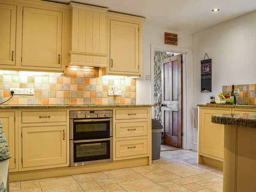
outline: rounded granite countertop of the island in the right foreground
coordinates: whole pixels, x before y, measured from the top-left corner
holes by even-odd
[[[212,122],[223,125],[234,125],[256,128],[256,112],[242,114],[212,115]]]

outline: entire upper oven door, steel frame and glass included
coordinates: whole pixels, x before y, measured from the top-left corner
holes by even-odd
[[[70,139],[98,139],[113,136],[112,118],[70,119]]]

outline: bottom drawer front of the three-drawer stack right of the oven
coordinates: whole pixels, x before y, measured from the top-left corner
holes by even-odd
[[[148,140],[127,140],[116,142],[116,158],[126,156],[136,156],[148,153]]]

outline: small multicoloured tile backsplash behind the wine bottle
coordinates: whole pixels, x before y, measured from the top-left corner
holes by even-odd
[[[256,84],[235,85],[240,90],[238,104],[256,105]],[[231,93],[232,85],[222,86],[223,93]]]

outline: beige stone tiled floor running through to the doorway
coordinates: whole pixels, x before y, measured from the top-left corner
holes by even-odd
[[[161,152],[152,166],[10,183],[11,192],[222,192],[222,171],[196,152]]]

